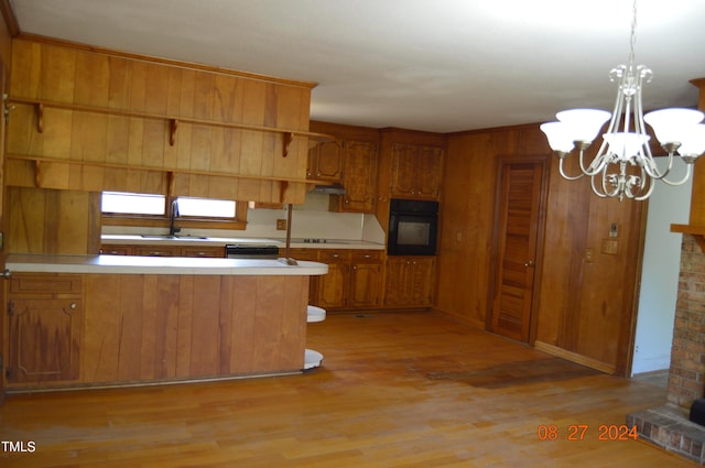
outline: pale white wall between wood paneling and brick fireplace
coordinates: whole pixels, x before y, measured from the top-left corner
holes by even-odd
[[[682,235],[670,229],[688,222],[691,187],[658,183],[649,199],[632,376],[671,366]]]

